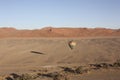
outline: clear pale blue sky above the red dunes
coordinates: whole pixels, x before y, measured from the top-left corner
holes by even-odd
[[[0,0],[0,27],[120,28],[120,0]]]

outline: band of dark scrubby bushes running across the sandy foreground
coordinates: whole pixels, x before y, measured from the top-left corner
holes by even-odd
[[[70,74],[80,75],[87,73],[90,70],[96,69],[109,69],[109,68],[118,68],[120,67],[120,60],[117,60],[113,64],[108,63],[99,63],[99,64],[90,64],[90,66],[75,66],[75,67],[60,67],[61,71],[49,72],[48,70],[40,70],[36,74],[15,74],[12,73],[10,76],[5,77],[6,80],[35,80],[36,78],[51,78],[53,80],[70,80]]]

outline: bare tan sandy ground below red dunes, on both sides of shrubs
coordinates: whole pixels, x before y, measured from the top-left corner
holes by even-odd
[[[70,40],[77,43],[73,50],[68,45]],[[0,39],[0,75],[29,73],[42,67],[113,63],[116,60],[120,60],[120,37]],[[71,80],[119,79],[118,69],[71,77]]]

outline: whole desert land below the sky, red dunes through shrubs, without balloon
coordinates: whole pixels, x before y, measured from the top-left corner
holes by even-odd
[[[1,28],[0,79],[120,80],[120,30]]]

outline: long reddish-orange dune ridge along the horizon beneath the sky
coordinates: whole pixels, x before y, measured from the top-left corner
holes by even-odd
[[[8,37],[100,37],[120,36],[120,29],[105,28],[51,28],[17,30],[0,28],[0,38]]]

